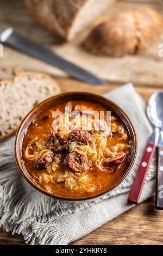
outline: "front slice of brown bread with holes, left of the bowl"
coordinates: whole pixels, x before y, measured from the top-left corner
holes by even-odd
[[[6,70],[0,81],[0,141],[17,130],[24,116],[39,102],[60,92],[53,78],[39,72]],[[11,79],[9,79],[10,77]],[[5,79],[7,78],[7,79]]]

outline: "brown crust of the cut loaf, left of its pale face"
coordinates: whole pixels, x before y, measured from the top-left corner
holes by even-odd
[[[30,13],[43,26],[69,39],[69,29],[76,18],[78,11],[87,0],[24,0]]]

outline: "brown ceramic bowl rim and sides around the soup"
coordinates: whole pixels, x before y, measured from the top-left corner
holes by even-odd
[[[24,133],[27,131],[28,126],[30,123],[35,119],[37,115],[39,115],[42,111],[45,111],[48,107],[51,107],[57,103],[60,103],[62,101],[70,101],[70,100],[85,100],[85,101],[92,101],[92,102],[98,102],[99,104],[105,106],[108,108],[109,111],[114,111],[118,117],[121,118],[124,125],[126,125],[127,130],[129,132],[130,138],[133,141],[133,150],[131,151],[131,157],[130,157],[130,163],[129,166],[126,169],[126,172],[122,176],[120,176],[114,184],[112,184],[110,187],[108,187],[106,190],[99,192],[96,196],[87,196],[87,197],[81,197],[81,198],[64,198],[62,195],[55,196],[55,194],[48,193],[45,188],[43,188],[40,184],[37,184],[35,180],[33,180],[30,175],[28,174],[26,168],[23,165],[22,162],[22,142]],[[16,134],[16,141],[15,141],[15,158],[18,168],[20,169],[21,173],[23,174],[24,178],[36,188],[36,190],[39,190],[40,192],[47,194],[48,196],[60,199],[60,200],[68,200],[72,202],[83,202],[85,200],[91,200],[98,197],[103,196],[104,194],[107,194],[109,191],[120,185],[120,183],[126,178],[128,173],[131,170],[131,167],[134,164],[135,157],[137,152],[137,138],[136,138],[136,132],[133,127],[133,124],[131,123],[130,119],[128,118],[127,114],[124,113],[124,111],[118,107],[114,102],[106,99],[103,96],[99,96],[92,93],[84,93],[84,92],[72,92],[72,93],[62,93],[57,96],[51,97],[43,102],[41,102],[39,105],[35,106],[32,111],[30,111],[26,117],[22,120],[22,123],[20,127],[18,128],[17,134]]]

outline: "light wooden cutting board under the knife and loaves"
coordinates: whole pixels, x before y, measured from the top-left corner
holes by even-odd
[[[163,15],[163,7],[160,8],[160,5],[158,5],[159,0],[117,0],[116,4],[112,5],[109,10],[106,10],[106,14],[101,19],[103,20],[106,16],[109,17],[137,6],[140,7],[147,2]],[[16,31],[27,36],[27,38],[51,48],[61,56],[72,60],[80,66],[84,66],[87,70],[94,72],[108,81],[115,83],[133,82],[134,84],[143,86],[163,86],[163,57],[159,57],[158,55],[159,44],[161,42],[163,43],[163,34],[160,40],[141,56],[109,58],[96,57],[85,51],[80,45],[61,42],[60,39],[35,22],[20,0],[1,1],[0,24],[1,29],[14,27]],[[4,57],[0,58],[0,66],[9,65],[21,66],[27,70],[48,72],[52,75],[66,76],[64,72],[57,68],[53,68],[11,48],[4,47]]]

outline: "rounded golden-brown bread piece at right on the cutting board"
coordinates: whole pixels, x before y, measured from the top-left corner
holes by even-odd
[[[162,16],[151,8],[121,13],[95,27],[84,42],[92,53],[122,57],[145,52],[163,31]]]

